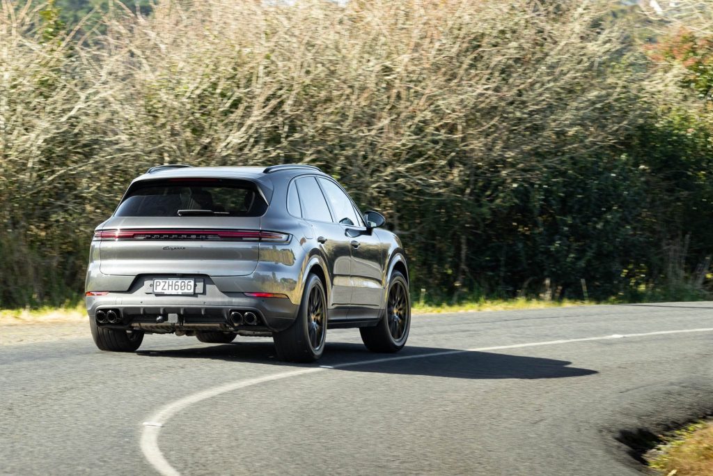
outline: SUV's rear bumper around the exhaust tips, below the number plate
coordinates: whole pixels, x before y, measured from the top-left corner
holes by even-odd
[[[120,323],[101,324],[113,328],[142,328],[149,332],[174,330],[243,330],[255,333],[279,332],[289,327],[297,316],[298,304],[288,298],[252,298],[243,293],[222,293],[205,276],[195,295],[155,295],[148,283],[152,278],[140,278],[125,293],[87,296],[86,308],[90,318],[98,310],[113,309]],[[234,325],[230,312],[252,312],[257,324]]]

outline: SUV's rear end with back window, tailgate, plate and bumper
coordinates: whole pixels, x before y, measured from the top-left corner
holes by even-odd
[[[92,240],[93,331],[272,335],[289,327],[299,289],[285,277],[299,275],[302,248],[266,227],[272,195],[262,168],[160,167],[135,179]]]

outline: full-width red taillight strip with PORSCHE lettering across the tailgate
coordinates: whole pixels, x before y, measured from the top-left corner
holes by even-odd
[[[102,230],[97,240],[247,240],[287,241],[287,233],[258,230]]]

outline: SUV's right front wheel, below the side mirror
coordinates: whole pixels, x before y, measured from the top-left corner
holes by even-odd
[[[359,328],[361,341],[371,352],[399,352],[409,338],[411,329],[411,296],[409,284],[399,271],[391,273],[386,294],[384,317],[371,328]]]

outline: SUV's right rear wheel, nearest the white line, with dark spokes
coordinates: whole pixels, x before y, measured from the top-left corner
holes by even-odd
[[[279,360],[314,362],[322,357],[327,341],[327,298],[319,276],[307,276],[297,319],[273,340]]]

